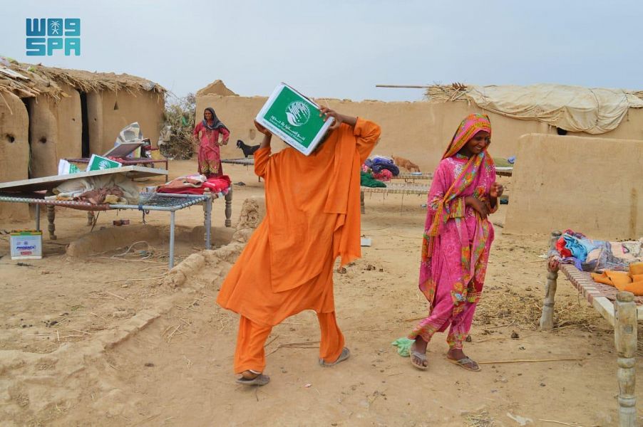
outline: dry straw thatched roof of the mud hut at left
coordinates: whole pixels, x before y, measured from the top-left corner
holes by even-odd
[[[146,91],[165,94],[158,83],[128,74],[92,73],[86,70],[45,67],[17,63],[0,58],[0,94],[13,93],[18,97],[47,95],[55,99],[64,97],[59,85],[66,83],[81,92],[125,90],[130,93]]]

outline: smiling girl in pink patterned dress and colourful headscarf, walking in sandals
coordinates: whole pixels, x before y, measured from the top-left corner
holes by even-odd
[[[470,371],[480,367],[462,344],[483,289],[493,226],[487,216],[498,209],[503,186],[487,153],[491,123],[481,114],[463,120],[446,149],[428,194],[422,244],[420,290],[430,314],[408,335],[414,339],[411,363],[426,369],[426,346],[449,328],[447,358]]]

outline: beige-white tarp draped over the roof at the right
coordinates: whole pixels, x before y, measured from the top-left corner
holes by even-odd
[[[616,129],[629,108],[643,107],[643,100],[626,90],[566,85],[467,85],[464,97],[500,115],[590,134]]]

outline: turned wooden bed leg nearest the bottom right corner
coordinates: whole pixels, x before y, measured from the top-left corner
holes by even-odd
[[[614,342],[618,355],[619,427],[637,425],[637,305],[632,292],[618,292],[614,302]]]

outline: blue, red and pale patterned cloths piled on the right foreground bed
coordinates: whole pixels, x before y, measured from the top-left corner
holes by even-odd
[[[607,242],[566,230],[550,253],[559,263],[574,264],[578,270],[628,271],[629,265],[643,261],[643,238],[637,241]]]

